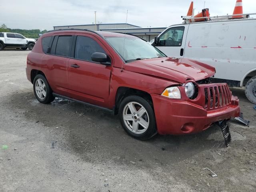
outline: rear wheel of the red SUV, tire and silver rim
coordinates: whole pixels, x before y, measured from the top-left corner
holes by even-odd
[[[36,75],[34,78],[33,89],[36,99],[40,103],[47,104],[55,99],[46,78],[41,74]]]

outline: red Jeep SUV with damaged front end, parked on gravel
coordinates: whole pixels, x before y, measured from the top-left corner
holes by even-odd
[[[138,139],[201,132],[239,116],[227,84],[211,84],[215,69],[186,58],[169,58],[126,34],[53,30],[27,57],[26,75],[41,103],[68,98],[118,114]]]

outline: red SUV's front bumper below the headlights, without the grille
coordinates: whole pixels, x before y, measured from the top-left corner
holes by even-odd
[[[231,104],[216,110],[182,100],[173,100],[151,94],[159,134],[192,134],[201,132],[214,122],[239,116],[238,98],[232,96]]]

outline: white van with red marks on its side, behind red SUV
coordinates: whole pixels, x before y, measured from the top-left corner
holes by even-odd
[[[256,104],[256,19],[184,22],[166,28],[152,45],[167,56],[214,66],[212,82],[245,86],[248,100]]]

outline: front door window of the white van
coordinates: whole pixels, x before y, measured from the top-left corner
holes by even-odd
[[[185,27],[172,27],[160,36],[159,46],[181,46]]]

